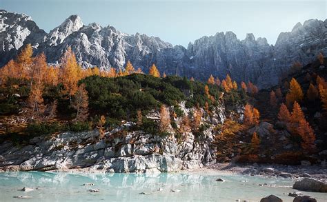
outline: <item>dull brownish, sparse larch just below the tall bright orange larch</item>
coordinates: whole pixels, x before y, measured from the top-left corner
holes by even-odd
[[[72,108],[77,111],[75,122],[85,121],[88,119],[88,92],[85,89],[84,83],[79,85],[77,91],[75,92]]]

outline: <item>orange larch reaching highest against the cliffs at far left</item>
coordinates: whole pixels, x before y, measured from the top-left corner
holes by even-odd
[[[30,65],[32,65],[33,58],[33,48],[28,43],[25,48],[21,51],[21,53],[17,57],[17,65],[19,66],[19,76],[18,78],[25,78],[26,77],[26,72],[30,69]]]

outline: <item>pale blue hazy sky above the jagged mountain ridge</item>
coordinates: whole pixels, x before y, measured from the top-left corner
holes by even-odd
[[[280,32],[297,22],[327,18],[327,1],[321,0],[0,0],[0,9],[28,14],[49,32],[71,14],[83,23],[114,26],[127,34],[160,37],[187,47],[190,41],[217,32],[232,31],[266,37],[275,44]]]

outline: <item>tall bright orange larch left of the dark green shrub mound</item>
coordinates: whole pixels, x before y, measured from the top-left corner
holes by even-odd
[[[77,82],[80,79],[81,67],[77,64],[75,54],[70,47],[61,57],[60,70],[64,93],[67,93],[71,99],[75,92],[77,92]]]

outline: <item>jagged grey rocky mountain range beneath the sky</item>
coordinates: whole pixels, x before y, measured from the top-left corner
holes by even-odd
[[[71,46],[83,68],[123,68],[130,60],[144,72],[156,63],[166,74],[207,79],[210,74],[223,78],[230,73],[236,81],[253,81],[266,88],[278,83],[295,61],[305,65],[319,52],[327,54],[327,20],[297,23],[291,32],[279,34],[275,46],[253,34],[239,40],[233,32],[218,32],[184,48],[146,34],[124,34],[112,26],[86,26],[77,15],[46,33],[26,14],[0,10],[0,41],[0,66],[27,43],[35,54],[45,52],[49,63],[57,63]]]

